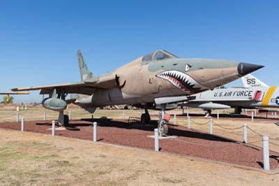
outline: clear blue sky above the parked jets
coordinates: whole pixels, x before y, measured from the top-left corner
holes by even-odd
[[[1,1],[0,90],[78,82],[78,49],[94,75],[165,49],[263,64],[253,74],[278,85],[278,7],[279,1]],[[41,99],[38,92],[15,96]]]

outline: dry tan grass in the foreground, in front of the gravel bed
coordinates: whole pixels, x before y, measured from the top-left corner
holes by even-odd
[[[0,129],[0,185],[278,185],[188,157]]]

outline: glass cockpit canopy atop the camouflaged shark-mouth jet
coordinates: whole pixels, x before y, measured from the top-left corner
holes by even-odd
[[[155,62],[163,59],[178,58],[176,55],[167,52],[166,50],[157,50],[142,57],[142,62]]]

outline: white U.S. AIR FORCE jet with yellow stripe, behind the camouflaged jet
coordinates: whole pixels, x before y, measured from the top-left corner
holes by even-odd
[[[241,80],[244,87],[201,92],[185,105],[202,108],[206,114],[210,114],[212,109],[235,108],[234,113],[241,114],[242,108],[279,108],[278,87],[269,87],[250,74]]]

